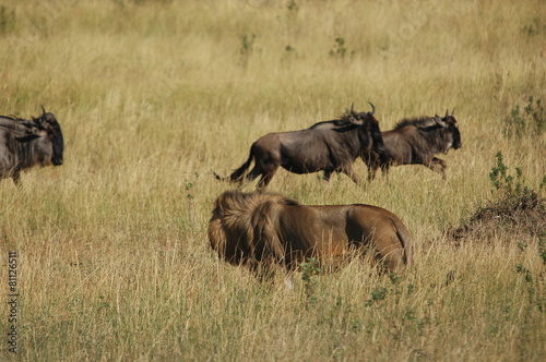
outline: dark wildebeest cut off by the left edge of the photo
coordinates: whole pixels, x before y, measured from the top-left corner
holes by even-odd
[[[0,179],[19,183],[21,170],[33,166],[62,165],[61,128],[54,113],[32,120],[0,116]]]

